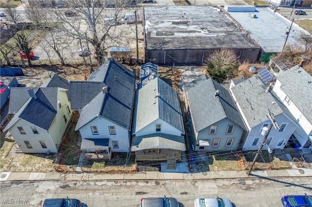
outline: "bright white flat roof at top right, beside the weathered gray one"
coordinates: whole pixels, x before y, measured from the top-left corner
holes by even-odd
[[[261,46],[265,52],[282,52],[292,21],[274,13],[269,8],[257,8],[256,12],[228,12],[249,35]],[[252,15],[256,15],[252,18]],[[293,14],[294,15],[294,14]],[[291,32],[287,39],[287,45],[294,43],[301,45],[298,41],[301,33],[306,32],[299,25],[293,23]],[[303,46],[303,45],[302,45]]]

